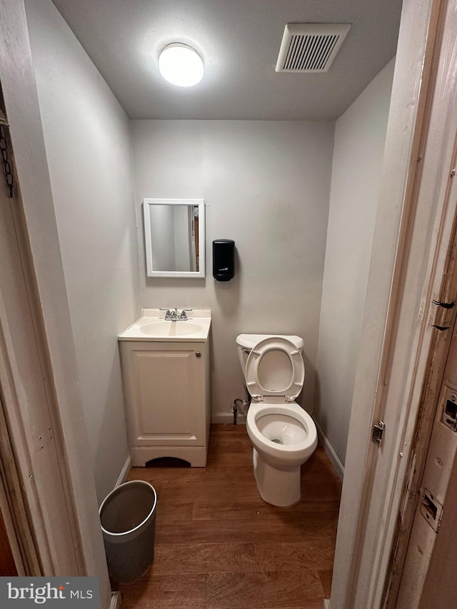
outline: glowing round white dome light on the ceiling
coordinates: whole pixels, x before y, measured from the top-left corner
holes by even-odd
[[[159,71],[171,84],[194,86],[203,78],[203,61],[191,46],[174,42],[162,49]]]

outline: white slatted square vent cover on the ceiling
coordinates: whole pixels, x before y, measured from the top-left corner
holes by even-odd
[[[276,72],[326,72],[351,29],[348,24],[287,24]]]

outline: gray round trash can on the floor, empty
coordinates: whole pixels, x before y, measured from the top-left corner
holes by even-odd
[[[111,577],[133,582],[154,558],[157,493],[143,480],[119,485],[100,506],[100,523]]]

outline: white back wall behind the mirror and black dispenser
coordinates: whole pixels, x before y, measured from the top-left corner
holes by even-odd
[[[204,198],[206,278],[146,279],[147,307],[211,308],[213,419],[243,397],[238,333],[304,339],[303,406],[313,407],[333,151],[331,122],[132,121],[136,204]],[[141,228],[141,227],[140,227]],[[211,241],[236,241],[236,276],[212,277]]]

